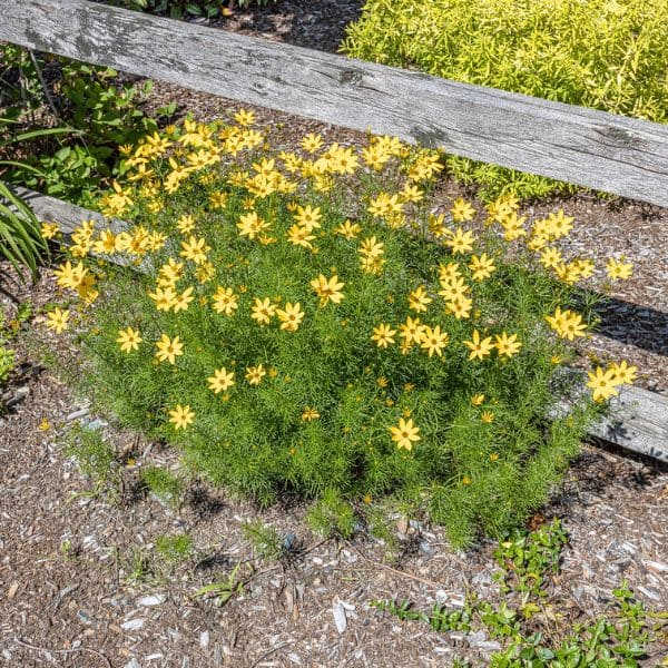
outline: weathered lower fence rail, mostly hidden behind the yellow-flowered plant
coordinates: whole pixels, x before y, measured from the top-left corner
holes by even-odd
[[[66,240],[82,220],[95,219],[115,233],[128,227],[122,220],[107,220],[101,214],[55,197],[27,188],[14,190],[26,198],[38,218],[59,223]],[[640,387],[625,387],[610,402],[603,421],[590,428],[589,435],[668,463],[668,397]]]

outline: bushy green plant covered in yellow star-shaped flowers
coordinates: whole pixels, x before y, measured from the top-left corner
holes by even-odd
[[[275,155],[252,114],[236,119],[128,149],[128,184],[100,206],[132,227],[75,232],[56,274],[81,306],[48,326],[76,325],[94,397],[215,483],[263,504],[320,499],[314,521],[342,533],[351,501],[381,495],[458,544],[514,525],[593,410],[587,396],[549,419],[581,382],[562,363],[589,330],[574,283],[593,262],[557,247],[572,218],[439,205],[438,154],[396,139],[308,136]],[[595,399],[633,371],[598,369]]]

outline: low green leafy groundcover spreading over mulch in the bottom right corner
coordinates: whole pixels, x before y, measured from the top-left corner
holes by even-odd
[[[612,591],[615,603],[605,616],[577,623],[569,632],[563,629],[554,632],[551,625],[543,627],[540,617],[533,615],[546,602],[544,579],[558,572],[566,543],[561,523],[553,520],[533,532],[515,532],[512,540],[501,542],[494,550],[494,559],[504,572],[502,593],[521,595],[523,613],[505,600],[492,605],[475,596],[469,596],[464,607],[455,610],[436,603],[431,611],[423,612],[415,610],[407,599],[376,600],[371,606],[401,620],[423,621],[435,631],[483,629],[492,638],[505,640],[507,647],[491,657],[490,665],[494,668],[641,666],[648,646],[668,617],[646,610],[626,580]],[[531,615],[525,613],[528,602]],[[554,618],[553,610],[551,617]]]

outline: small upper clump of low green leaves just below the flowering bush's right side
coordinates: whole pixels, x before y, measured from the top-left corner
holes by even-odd
[[[548,578],[559,572],[561,551],[567,543],[568,536],[559,518],[531,533],[513,531],[493,552],[502,569],[497,577],[502,591],[546,597]]]

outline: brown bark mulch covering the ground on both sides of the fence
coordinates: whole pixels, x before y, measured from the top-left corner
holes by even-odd
[[[334,50],[360,2],[285,1],[237,12],[224,28]],[[147,104],[175,99],[181,112],[210,119],[240,105],[158,84]],[[322,131],[327,141],[360,135],[313,120],[256,109],[273,143],[294,146]],[[462,193],[444,179],[449,197]],[[640,367],[641,384],[666,392],[668,354],[668,210],[591,195],[543,202],[534,213],[562,206],[579,223],[573,250],[606,257],[623,253],[635,263],[603,312],[601,334],[584,353],[625,357]],[[12,297],[38,310],[57,298],[43,271],[21,286],[0,264],[0,308]],[[19,367],[0,415],[0,665],[10,667],[376,667],[448,666],[454,656],[488,662],[494,641],[435,633],[399,622],[370,607],[373,599],[407,598],[426,609],[435,601],[461,605],[473,591],[500,600],[492,543],[455,552],[438,528],[396,518],[400,552],[364,528],[352,540],[323,541],[304,520],[305,507],[285,500],[259,512],[188,473],[180,508],[160,503],[139,482],[148,465],[179,469],[178,453],[146,442],[90,414],[53,372],[39,363],[39,316],[14,342]],[[56,356],[76,354],[47,337]],[[1,393],[1,392],[0,392]],[[48,421],[48,429],[43,421]],[[116,483],[96,490],[63,451],[75,425],[88,425],[115,449]],[[557,515],[570,536],[550,600],[569,623],[603,612],[611,589],[627,579],[640,600],[668,608],[668,469],[612,449],[586,445],[542,514]],[[261,519],[294,544],[292,558],[262,562],[244,539],[245,522]],[[155,548],[161,536],[188,532],[194,552],[169,564]],[[236,564],[243,589],[225,606],[197,590],[228,580]],[[338,628],[336,620],[338,620]],[[343,620],[343,621],[342,621]],[[343,623],[345,622],[345,623]],[[343,628],[345,626],[345,628]],[[668,640],[668,639],[666,639]],[[647,666],[668,652],[655,647]]]

